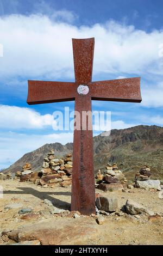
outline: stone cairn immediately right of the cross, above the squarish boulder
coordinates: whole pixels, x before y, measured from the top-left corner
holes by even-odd
[[[98,170],[96,175],[96,187],[103,191],[114,191],[123,189],[123,185],[127,182],[124,174],[118,169],[117,164],[107,164],[104,174]]]

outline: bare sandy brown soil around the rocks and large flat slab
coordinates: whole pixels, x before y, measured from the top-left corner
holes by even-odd
[[[29,220],[21,219],[22,215],[18,215],[17,209],[4,210],[4,206],[10,203],[21,203],[22,208],[32,208],[34,214],[38,214],[40,210],[49,211],[49,206],[43,203],[43,199],[53,201],[53,204],[59,208],[70,209],[71,188],[55,187],[43,188],[36,186],[32,182],[18,182],[16,180],[1,181],[3,186],[4,197],[0,199],[0,232],[3,230],[15,230],[25,227],[27,224],[39,223],[43,218],[52,220],[56,226],[61,225],[62,220],[66,217],[47,214],[47,216],[36,215]],[[158,191],[146,191],[139,188],[127,192],[103,192],[96,190],[104,196],[116,196],[118,198],[118,211],[126,203],[127,199],[133,199],[137,203],[143,204],[148,210],[163,216],[163,199],[159,199]],[[162,245],[163,244],[163,221],[162,217],[151,218],[146,215],[135,216],[127,215],[104,216],[103,225],[97,225],[97,235],[92,239],[83,241],[84,245]],[[83,218],[83,225],[92,217]],[[72,221],[77,219],[72,219]],[[86,220],[86,222],[85,222]],[[95,220],[93,220],[95,221]],[[81,218],[79,223],[81,223]],[[96,223],[96,221],[95,221]],[[4,236],[3,236],[4,238]],[[4,239],[5,240],[5,239]],[[87,241],[87,242],[86,242]],[[3,241],[0,238],[0,244],[14,243],[14,241]],[[80,245],[82,242],[79,242]],[[70,243],[72,244],[72,242]],[[78,244],[73,241],[73,244]]]

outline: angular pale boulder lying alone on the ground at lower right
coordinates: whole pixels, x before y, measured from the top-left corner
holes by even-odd
[[[142,214],[146,209],[138,203],[135,203],[133,200],[127,200],[126,202],[126,212],[131,215]]]

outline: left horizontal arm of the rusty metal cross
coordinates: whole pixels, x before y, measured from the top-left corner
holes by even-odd
[[[71,101],[74,99],[74,83],[28,80],[27,103],[29,105]]]

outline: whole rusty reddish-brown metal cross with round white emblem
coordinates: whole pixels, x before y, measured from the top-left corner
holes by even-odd
[[[72,39],[75,82],[28,81],[27,103],[75,100],[75,111],[91,111],[91,100],[141,102],[140,77],[92,82],[95,39]],[[71,210],[95,214],[92,130],[74,130]]]

